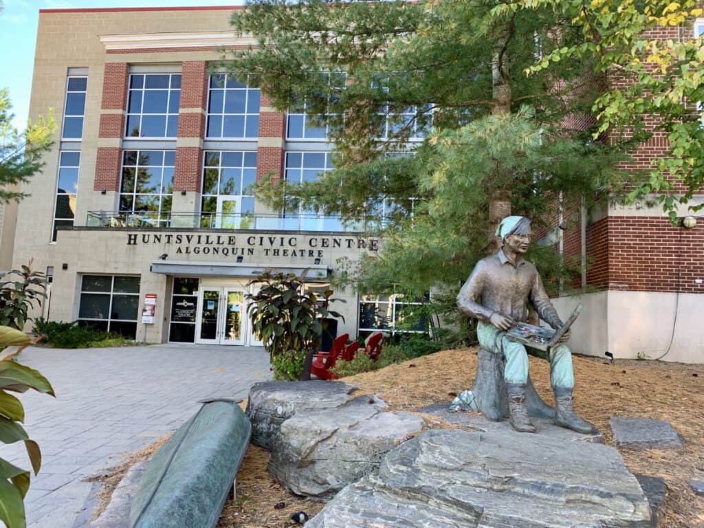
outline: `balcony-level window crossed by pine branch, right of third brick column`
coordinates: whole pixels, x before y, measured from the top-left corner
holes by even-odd
[[[332,153],[329,152],[287,152],[284,177],[291,183],[315,182],[323,172],[333,169]],[[300,228],[303,231],[341,231],[339,216],[325,216],[318,210],[301,206],[296,211],[285,213],[301,215]]]

